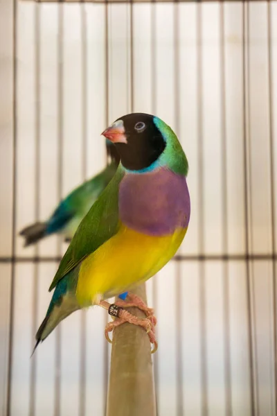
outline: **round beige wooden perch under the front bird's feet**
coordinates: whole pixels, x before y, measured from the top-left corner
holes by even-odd
[[[146,302],[145,284],[132,291]],[[133,315],[145,318],[137,308]],[[114,329],[107,416],[156,416],[151,345],[141,327],[125,323]]]

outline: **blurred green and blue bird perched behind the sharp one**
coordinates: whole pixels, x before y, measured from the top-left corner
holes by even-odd
[[[107,154],[111,163],[105,169],[71,191],[46,221],[28,225],[19,232],[25,239],[24,247],[57,233],[62,234],[65,242],[71,241],[82,218],[116,173],[119,155],[115,146],[108,140]]]

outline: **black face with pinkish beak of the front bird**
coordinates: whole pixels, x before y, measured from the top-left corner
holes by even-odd
[[[131,171],[148,168],[166,148],[166,141],[150,114],[119,117],[102,135],[114,143],[123,166]]]

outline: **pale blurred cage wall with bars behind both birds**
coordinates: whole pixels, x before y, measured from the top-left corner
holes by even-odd
[[[105,416],[107,313],[30,359],[66,244],[18,233],[105,166],[100,132],[131,111],[190,164],[188,233],[147,284],[158,414],[277,415],[276,93],[277,2],[0,0],[0,415]]]

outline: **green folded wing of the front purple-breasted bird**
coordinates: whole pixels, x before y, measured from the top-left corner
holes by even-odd
[[[84,216],[73,239],[66,250],[49,291],[57,285],[68,272],[100,245],[116,234],[118,229],[118,187],[124,175],[121,164],[116,174],[102,191],[98,200]]]

